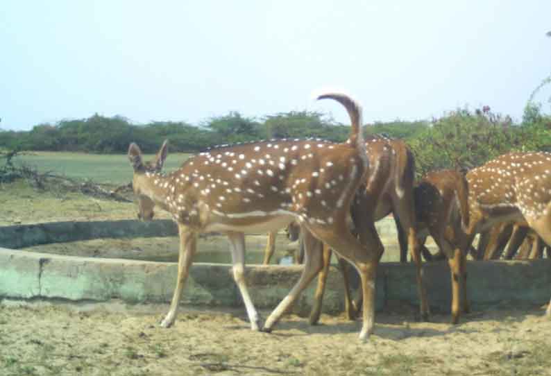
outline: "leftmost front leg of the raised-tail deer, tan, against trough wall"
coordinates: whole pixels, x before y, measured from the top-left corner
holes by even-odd
[[[178,223],[178,232],[180,233],[180,253],[178,255],[178,277],[176,278],[176,289],[172,296],[167,316],[161,321],[162,327],[170,327],[176,320],[180,298],[189,275],[189,267],[192,266],[193,257],[196,251],[197,235],[187,226]]]

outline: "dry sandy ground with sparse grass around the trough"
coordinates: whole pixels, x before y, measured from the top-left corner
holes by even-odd
[[[130,204],[0,187],[0,225],[134,216]],[[285,316],[265,334],[249,329],[244,308],[195,308],[162,329],[167,305],[3,300],[0,375],[551,375],[541,307],[484,309],[459,325],[448,315],[417,323],[411,308],[393,307],[378,313],[367,343],[344,316],[316,327]]]

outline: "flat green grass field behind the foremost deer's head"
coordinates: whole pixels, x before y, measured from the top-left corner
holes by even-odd
[[[177,169],[189,155],[169,153],[164,170]],[[152,155],[144,155],[144,160],[147,161],[151,157]],[[126,154],[99,155],[40,151],[16,157],[14,162],[33,166],[42,173],[51,171],[69,178],[91,179],[94,182],[121,185],[132,180],[132,168]]]

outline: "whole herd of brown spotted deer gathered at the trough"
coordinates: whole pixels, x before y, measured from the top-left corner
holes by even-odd
[[[551,245],[550,153],[509,153],[467,173],[429,173],[414,185],[414,157],[404,142],[385,137],[364,140],[361,106],[346,94],[328,92],[317,99],[332,99],[346,108],[351,122],[346,142],[271,139],[215,146],[189,157],[171,173],[162,172],[166,141],[151,162],[144,162],[139,146],[130,144],[128,157],[134,170],[139,219],[153,219],[153,208],[158,206],[178,225],[178,277],[163,327],[176,320],[197,237],[203,232],[228,236],[232,273],[251,329],[264,332],[273,330],[316,276],[318,288],[310,323],[319,320],[334,251],[341,271],[346,272],[345,265],[350,263],[359,273],[359,302],[353,303],[347,283],[345,297],[350,318],[362,313],[362,340],[373,332],[375,321],[375,278],[384,250],[375,221],[384,216],[392,213],[396,220],[400,261],[406,261],[409,250],[415,262],[420,312],[425,320],[430,312],[421,255],[448,259],[452,323],[457,323],[461,311],[469,309],[468,253],[477,259],[499,257],[509,237],[506,255],[511,257],[516,251],[512,248],[527,239],[532,239],[532,246],[525,246],[528,250],[524,253],[532,257]],[[273,234],[288,225],[296,234],[300,231],[303,271],[262,323],[246,286],[244,234],[271,234],[264,259],[267,263],[273,253]],[[478,249],[473,250],[476,234],[482,235]],[[428,235],[439,247],[439,255],[432,256],[425,248]],[[346,273],[344,280],[348,280]],[[547,314],[551,315],[551,302]]]

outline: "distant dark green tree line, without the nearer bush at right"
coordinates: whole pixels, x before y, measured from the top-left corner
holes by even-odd
[[[425,121],[381,123],[370,132],[406,137],[428,126]],[[258,121],[230,112],[194,126],[184,121],[152,121],[133,124],[128,119],[94,114],[87,119],[44,123],[29,131],[0,130],[0,148],[26,151],[72,151],[84,153],[126,153],[136,142],[146,153],[156,151],[164,139],[171,151],[196,152],[218,144],[235,144],[258,139],[320,137],[335,142],[348,137],[348,125],[337,123],[319,112],[286,112]]]

